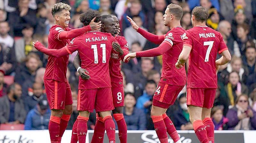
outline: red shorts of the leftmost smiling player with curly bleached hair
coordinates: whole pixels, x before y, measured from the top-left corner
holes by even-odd
[[[73,104],[69,82],[44,79],[44,83],[50,109],[64,110],[65,105]]]

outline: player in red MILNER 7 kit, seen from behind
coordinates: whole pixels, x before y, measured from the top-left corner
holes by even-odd
[[[221,34],[206,26],[207,15],[204,7],[193,9],[193,28],[182,36],[183,50],[176,67],[183,68],[189,57],[187,105],[190,121],[201,143],[214,143],[210,115],[217,89],[216,73],[219,65],[229,62],[231,56]],[[217,53],[222,57],[215,61]]]

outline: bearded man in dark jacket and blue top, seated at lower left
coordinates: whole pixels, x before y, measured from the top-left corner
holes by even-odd
[[[0,98],[0,123],[23,124],[26,110],[21,100],[21,85],[13,83],[7,89],[7,96]]]

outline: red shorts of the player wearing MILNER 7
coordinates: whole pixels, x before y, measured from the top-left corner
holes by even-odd
[[[187,105],[203,108],[213,106],[216,89],[187,88]]]

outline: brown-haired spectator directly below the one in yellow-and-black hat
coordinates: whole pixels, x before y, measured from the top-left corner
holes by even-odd
[[[246,47],[246,42],[248,41],[248,33],[249,33],[249,26],[247,24],[240,24],[237,25],[237,39],[236,43],[234,44],[235,47],[239,47],[241,55],[245,54],[245,47]]]

